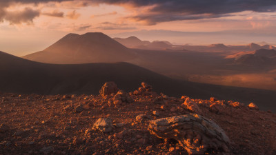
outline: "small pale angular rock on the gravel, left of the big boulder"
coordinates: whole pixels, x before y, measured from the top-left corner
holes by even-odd
[[[111,118],[99,118],[94,127],[101,132],[111,132],[114,128]]]

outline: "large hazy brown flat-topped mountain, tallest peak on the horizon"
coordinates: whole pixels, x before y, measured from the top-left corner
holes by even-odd
[[[106,34],[68,34],[41,52],[23,56],[43,63],[114,63],[135,58],[129,50]]]

